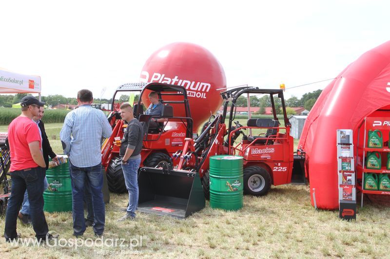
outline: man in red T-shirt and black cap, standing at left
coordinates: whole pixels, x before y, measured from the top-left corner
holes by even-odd
[[[8,126],[8,141],[11,153],[11,196],[5,216],[4,237],[7,242],[20,237],[16,224],[20,205],[27,189],[30,200],[31,221],[40,242],[52,239],[43,213],[43,179],[46,164],[42,155],[42,139],[37,123],[32,118],[39,115],[44,103],[32,96],[23,97],[21,114]],[[48,234],[48,237],[46,235]]]

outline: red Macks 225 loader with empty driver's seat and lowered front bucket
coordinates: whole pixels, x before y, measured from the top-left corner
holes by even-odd
[[[246,126],[234,121],[235,103],[241,95],[248,93],[270,96],[272,119],[249,119]],[[297,155],[293,155],[291,124],[286,114],[283,91],[238,87],[222,92],[221,96],[224,100],[223,113],[211,116],[198,137],[186,137],[182,148],[172,154],[172,163],[140,168],[139,211],[185,218],[203,208],[204,198],[209,197],[209,159],[212,155],[243,156],[246,194],[265,195],[272,184],[305,181],[305,153],[299,150]],[[283,127],[276,115],[274,97],[279,98],[282,104]],[[225,122],[225,119],[228,121]],[[247,135],[244,131],[248,130],[258,134]],[[239,140],[240,135],[242,138]]]

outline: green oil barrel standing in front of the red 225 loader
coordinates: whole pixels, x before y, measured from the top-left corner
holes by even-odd
[[[243,206],[243,157],[210,157],[210,207],[238,210]]]

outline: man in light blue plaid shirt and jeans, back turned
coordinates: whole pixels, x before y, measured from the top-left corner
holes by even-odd
[[[105,209],[103,202],[103,174],[101,172],[101,138],[109,138],[112,128],[101,110],[91,106],[92,92],[82,89],[77,93],[78,109],[69,112],[59,137],[64,154],[68,155],[72,181],[72,212],[75,236],[85,231],[83,195],[85,181],[92,193],[95,235],[104,231]],[[72,137],[71,137],[72,136]]]

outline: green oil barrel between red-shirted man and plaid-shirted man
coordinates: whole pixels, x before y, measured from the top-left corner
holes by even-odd
[[[69,162],[46,170],[49,184],[43,192],[47,212],[72,211],[72,186],[69,172]]]

